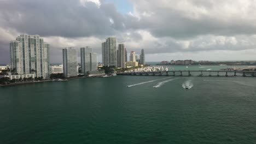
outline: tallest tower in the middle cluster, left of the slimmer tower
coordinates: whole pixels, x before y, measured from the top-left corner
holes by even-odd
[[[105,66],[117,67],[117,39],[110,37],[102,43],[102,62]]]

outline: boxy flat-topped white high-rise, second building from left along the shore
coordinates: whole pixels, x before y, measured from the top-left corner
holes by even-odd
[[[62,49],[63,55],[63,74],[65,77],[77,76],[77,50],[68,47]]]

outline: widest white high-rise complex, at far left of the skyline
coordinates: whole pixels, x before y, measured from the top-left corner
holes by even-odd
[[[10,63],[15,73],[34,73],[36,77],[49,79],[49,49],[39,35],[22,34],[10,41]]]

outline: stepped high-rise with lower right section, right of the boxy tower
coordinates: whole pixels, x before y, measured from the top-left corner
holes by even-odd
[[[92,52],[89,46],[82,47],[81,51],[81,72],[87,75],[88,71],[97,71],[98,56]]]

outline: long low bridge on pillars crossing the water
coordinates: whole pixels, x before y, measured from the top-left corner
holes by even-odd
[[[124,72],[117,75],[166,75],[166,76],[252,76],[256,71],[241,71],[241,70],[169,70],[169,71],[142,71],[142,72]]]

